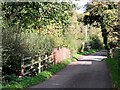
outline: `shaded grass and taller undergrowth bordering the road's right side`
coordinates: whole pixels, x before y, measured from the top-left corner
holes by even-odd
[[[113,58],[104,59],[109,65],[114,88],[120,89],[120,49],[114,50]]]

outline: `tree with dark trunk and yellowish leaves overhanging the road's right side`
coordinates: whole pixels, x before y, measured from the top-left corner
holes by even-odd
[[[113,33],[119,39],[118,28],[118,3],[115,2],[92,2],[87,5],[86,14],[83,16],[84,24],[101,27],[105,49],[109,51],[108,36]],[[116,35],[114,34],[116,33]],[[109,54],[109,53],[108,53]],[[109,55],[108,55],[109,56]]]

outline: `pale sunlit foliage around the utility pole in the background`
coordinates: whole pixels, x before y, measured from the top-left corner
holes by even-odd
[[[88,25],[88,41],[85,41],[85,25],[82,22],[79,22],[78,19],[79,15],[73,11],[73,17],[70,19],[71,24],[68,27],[68,31],[66,31],[66,43],[67,47],[71,50],[71,54],[73,55],[74,53],[81,52],[83,41],[86,42],[85,49],[87,49],[86,47],[89,45],[92,46],[92,49],[100,49],[100,46],[102,46],[101,29]],[[89,41],[91,41],[91,43],[89,43]],[[96,47],[97,45],[98,47]]]

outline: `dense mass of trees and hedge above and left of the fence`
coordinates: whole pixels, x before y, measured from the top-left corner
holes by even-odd
[[[54,47],[64,46],[71,8],[66,2],[2,3],[3,75],[19,74],[26,56],[49,55]]]

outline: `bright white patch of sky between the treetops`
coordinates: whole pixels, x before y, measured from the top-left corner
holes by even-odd
[[[77,4],[78,7],[81,7],[80,9],[76,9],[78,14],[85,12],[84,5],[87,4],[87,2],[90,2],[90,0],[73,0],[74,4]]]

